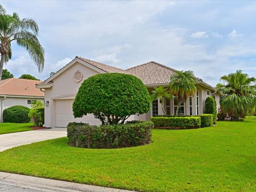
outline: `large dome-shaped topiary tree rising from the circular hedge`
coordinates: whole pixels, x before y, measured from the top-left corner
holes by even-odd
[[[133,75],[109,73],[85,79],[73,103],[75,117],[94,114],[102,124],[123,124],[150,110],[146,86]]]

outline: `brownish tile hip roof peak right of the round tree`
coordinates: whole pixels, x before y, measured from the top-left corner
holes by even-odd
[[[127,73],[141,79],[144,84],[170,83],[170,77],[175,69],[164,66],[158,62],[150,61],[139,66],[126,69]]]

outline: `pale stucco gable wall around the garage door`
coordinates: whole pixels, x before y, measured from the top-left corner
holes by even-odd
[[[83,74],[83,79],[79,83],[73,80],[73,75],[77,70],[81,71]],[[45,106],[45,126],[55,127],[54,100],[74,99],[83,81],[96,74],[99,73],[79,62],[76,62],[53,79],[53,86],[50,89],[45,89],[45,102],[49,101],[49,106]]]

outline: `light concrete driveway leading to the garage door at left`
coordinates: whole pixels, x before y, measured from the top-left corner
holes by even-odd
[[[0,151],[13,147],[27,145],[33,142],[49,139],[61,138],[67,136],[67,129],[52,128],[35,131],[25,131],[19,133],[8,133],[0,135]]]

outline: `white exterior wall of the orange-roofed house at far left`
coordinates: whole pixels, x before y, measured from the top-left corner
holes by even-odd
[[[28,100],[39,100],[44,103],[44,99],[37,98],[9,98],[6,97],[0,98],[0,111],[1,111],[1,122],[3,120],[3,110],[15,105],[25,106],[31,108],[31,105],[28,105]]]

